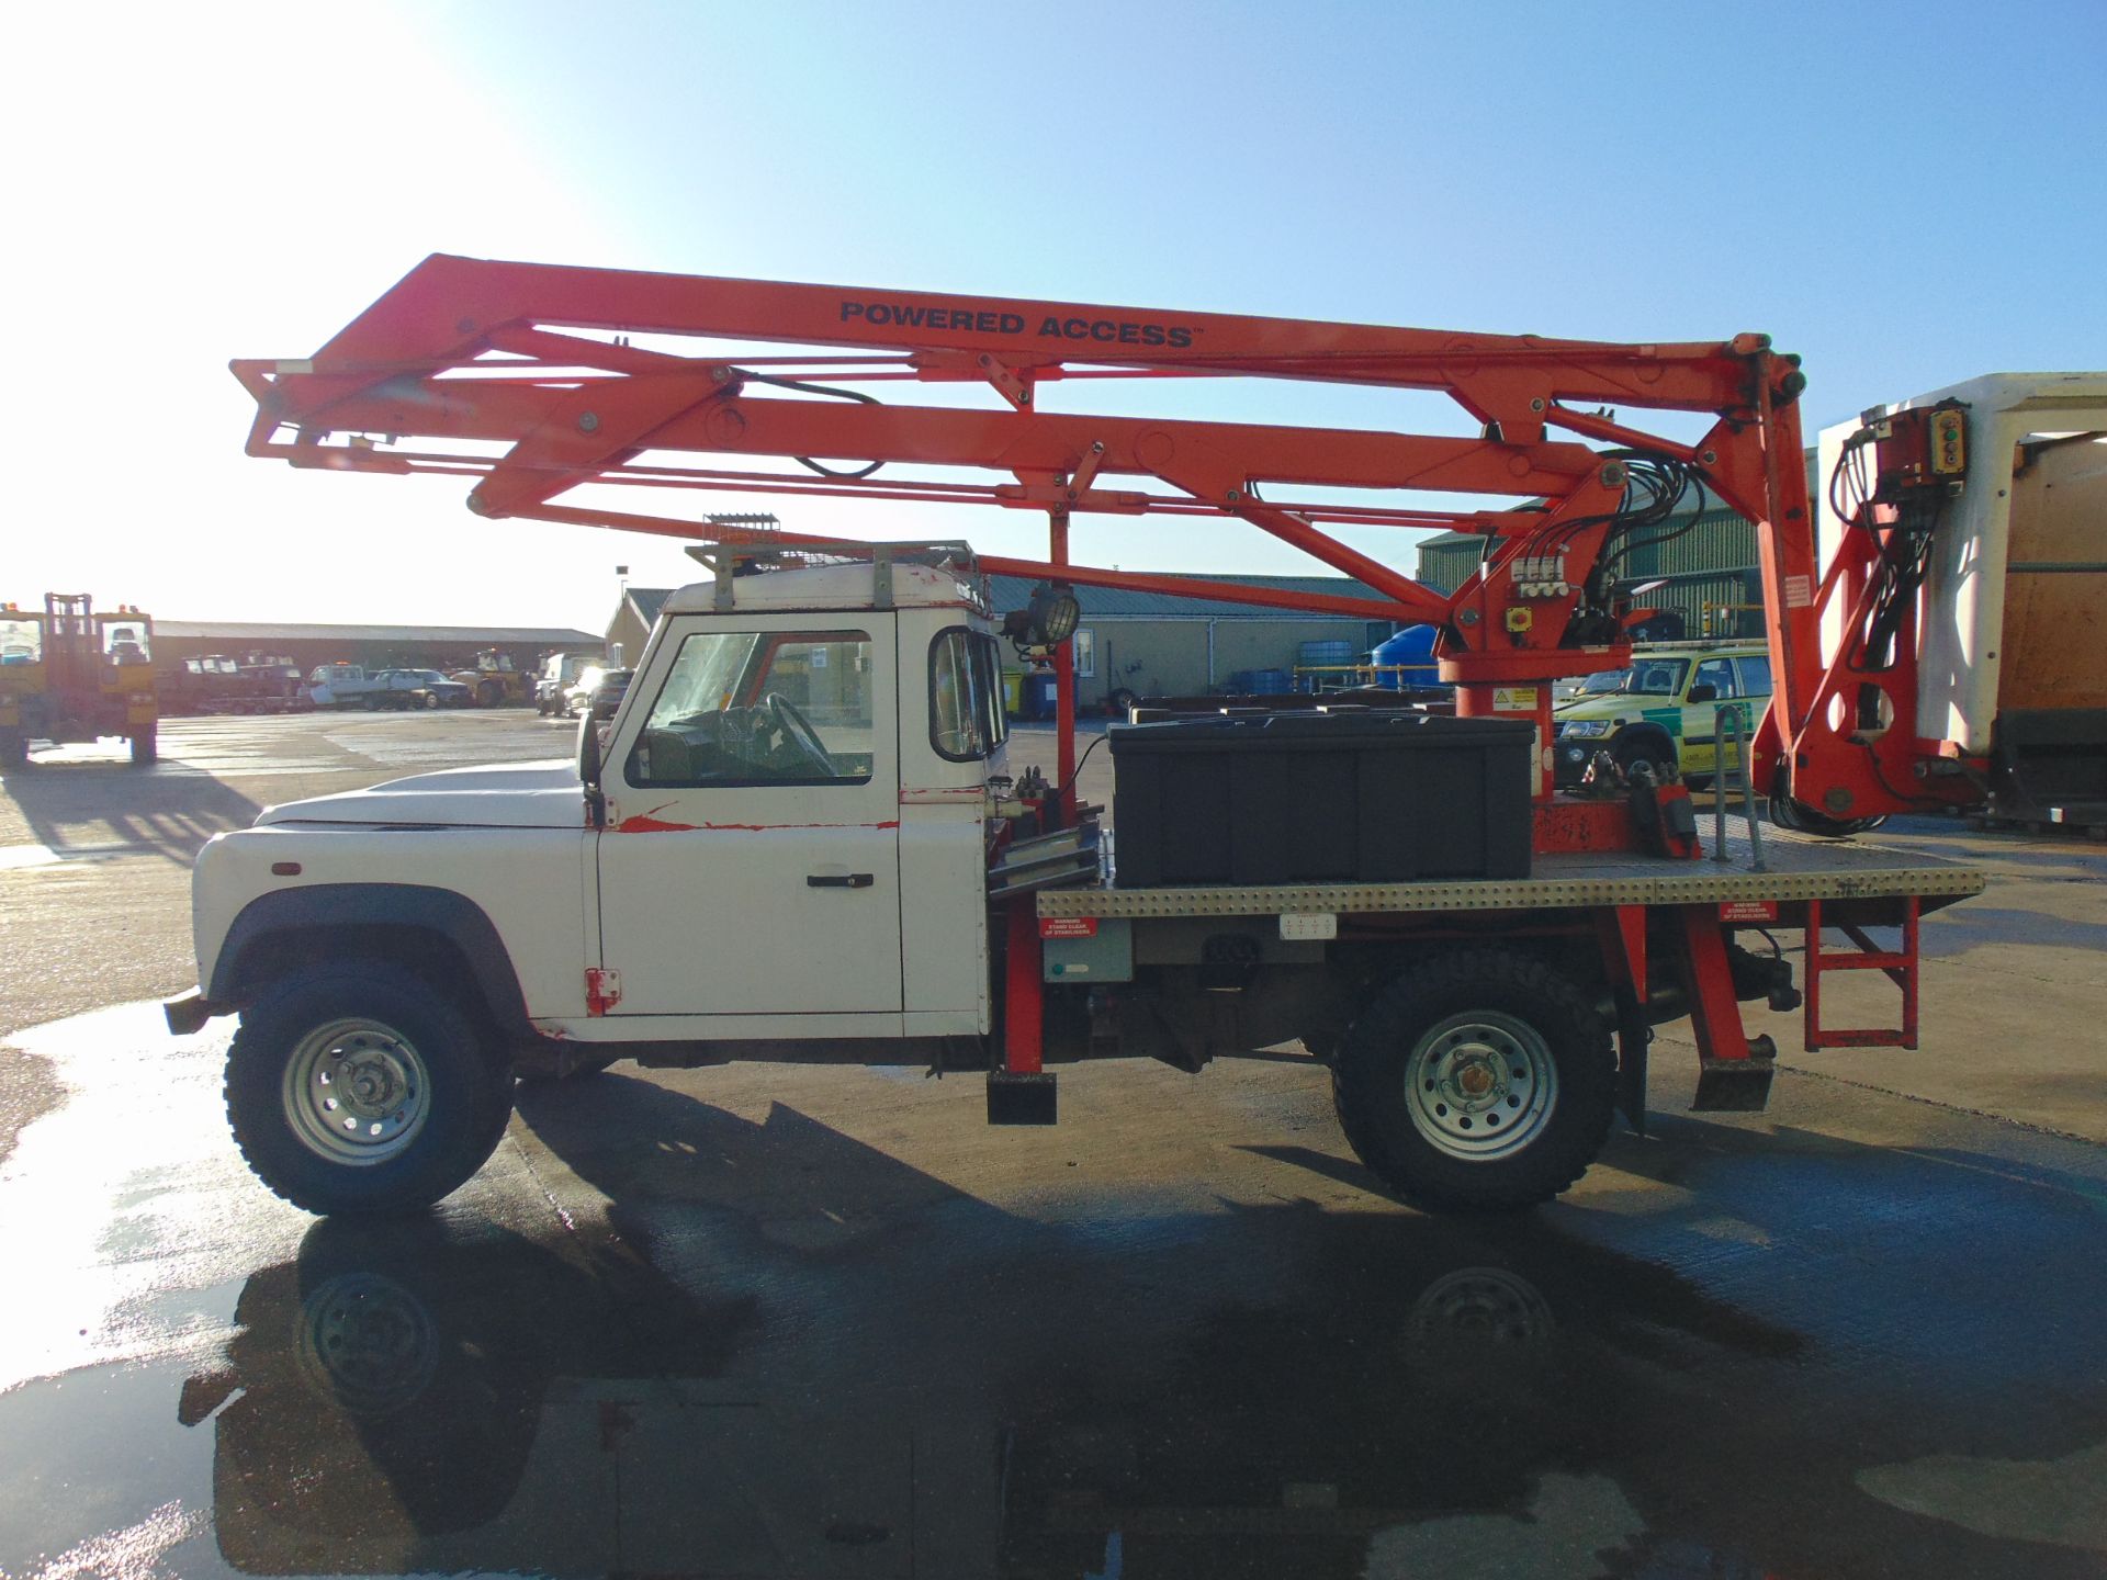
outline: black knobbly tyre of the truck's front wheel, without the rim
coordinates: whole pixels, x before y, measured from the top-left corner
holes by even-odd
[[[295,1087],[289,1066],[327,1058],[303,1049],[337,1024],[394,1034],[421,1070],[421,1119],[379,1161],[337,1161],[301,1135],[295,1108],[312,1087]],[[512,1070],[459,1003],[396,965],[369,961],[289,975],[242,1009],[225,1098],[236,1146],[276,1194],[312,1213],[377,1218],[430,1207],[489,1161],[512,1117]]]

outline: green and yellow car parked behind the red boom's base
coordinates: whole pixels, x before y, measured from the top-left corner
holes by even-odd
[[[1755,733],[1770,706],[1770,649],[1761,643],[1658,643],[1631,653],[1629,670],[1603,670],[1551,708],[1553,777],[1580,782],[1595,752],[1631,767],[1675,763],[1686,779],[1719,771],[1719,706]],[[1728,769],[1738,761],[1728,754]]]

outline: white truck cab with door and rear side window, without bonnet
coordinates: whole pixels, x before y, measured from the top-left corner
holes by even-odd
[[[729,607],[716,586],[668,598],[600,761],[607,1020],[702,1039],[988,1030],[997,643],[971,581],[887,579],[883,605],[868,565],[733,577]]]

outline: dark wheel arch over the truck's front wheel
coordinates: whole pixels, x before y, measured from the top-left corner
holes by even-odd
[[[240,1005],[284,971],[352,954],[413,971],[508,1039],[535,1036],[512,956],[483,906],[417,883],[312,883],[257,895],[228,929],[204,992]]]

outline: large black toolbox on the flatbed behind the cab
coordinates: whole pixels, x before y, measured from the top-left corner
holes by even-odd
[[[1277,712],[1106,735],[1121,889],[1530,876],[1530,720]]]

